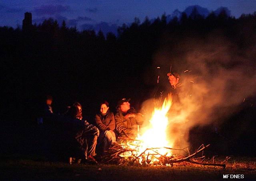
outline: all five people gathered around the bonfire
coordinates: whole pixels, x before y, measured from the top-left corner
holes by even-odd
[[[176,73],[168,73],[170,91],[175,94],[180,86],[180,76]],[[108,148],[116,143],[117,138],[135,138],[138,134],[138,126],[144,122],[143,115],[130,107],[130,98],[122,98],[118,101],[116,114],[109,109],[107,101],[101,102],[99,112],[95,115],[95,125],[82,118],[82,105],[75,102],[61,116],[52,112],[52,96],[47,96],[44,108],[44,116],[51,121],[68,123],[69,134],[76,142],[76,157],[85,161],[97,163],[96,152],[102,155]]]

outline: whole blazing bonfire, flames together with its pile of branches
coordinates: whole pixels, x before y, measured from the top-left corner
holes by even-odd
[[[129,136],[119,137],[118,140],[120,141],[110,148],[107,155],[102,157],[102,163],[173,166],[173,163],[189,162],[225,168],[228,157],[223,164],[205,163],[203,162],[204,155],[195,157],[210,145],[204,146],[202,144],[192,154],[190,154],[188,147],[182,149],[172,148],[173,143],[168,142],[166,136],[166,128],[169,123],[167,114],[171,105],[172,98],[169,95],[168,98],[165,98],[162,108],[154,108],[146,131],[141,135],[138,133],[136,139]],[[172,153],[173,150],[183,151],[184,155],[174,155]]]

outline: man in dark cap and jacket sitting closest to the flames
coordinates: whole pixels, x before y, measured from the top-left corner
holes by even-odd
[[[130,108],[130,98],[122,98],[118,101],[117,113],[115,115],[116,131],[121,137],[136,137],[138,125],[142,125],[143,116],[135,113],[134,108]]]

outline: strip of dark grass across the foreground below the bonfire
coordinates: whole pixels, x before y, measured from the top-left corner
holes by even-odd
[[[0,175],[2,180],[164,181],[223,180],[224,174],[242,174],[245,180],[256,180],[255,161],[255,158],[231,157],[226,169],[222,169],[186,164],[173,167],[69,165],[36,156],[10,155],[0,161]]]

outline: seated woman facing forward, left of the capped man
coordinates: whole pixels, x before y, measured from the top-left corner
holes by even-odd
[[[116,128],[115,118],[113,112],[110,112],[109,104],[106,100],[100,103],[100,112],[96,114],[95,122],[100,130],[98,146],[100,146],[100,150],[104,153],[116,142],[116,135],[114,132]]]

